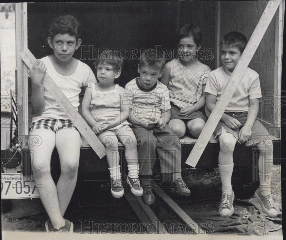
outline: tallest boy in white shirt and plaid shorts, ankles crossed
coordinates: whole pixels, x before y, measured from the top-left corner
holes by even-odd
[[[29,129],[29,147],[33,148],[31,162],[38,192],[49,215],[45,223],[47,232],[72,232],[73,224],[63,215],[74,192],[77,181],[81,135],[55,99],[43,87],[45,72],[63,91],[78,110],[81,87],[96,82],[94,73],[86,64],[73,58],[80,46],[79,22],[71,15],[61,16],[49,29],[48,43],[53,54],[38,59],[28,71],[31,77],[31,106],[33,115]],[[39,136],[41,144],[33,145]],[[68,139],[68,141],[67,141]],[[55,185],[51,177],[51,154],[57,148],[61,175]]]

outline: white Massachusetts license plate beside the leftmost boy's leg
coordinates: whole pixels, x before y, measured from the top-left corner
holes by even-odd
[[[39,197],[37,187],[30,177],[22,173],[1,173],[1,199]]]

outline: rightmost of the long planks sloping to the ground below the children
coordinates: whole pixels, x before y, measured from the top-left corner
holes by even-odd
[[[196,224],[194,220],[190,218],[188,214],[181,209],[177,203],[173,201],[154,181],[152,181],[154,192],[184,221],[188,226],[194,230],[195,233],[198,233],[200,227]],[[203,231],[203,230],[202,230]],[[203,231],[204,232],[204,231]],[[200,232],[202,233],[202,232]],[[205,233],[205,232],[204,232]]]

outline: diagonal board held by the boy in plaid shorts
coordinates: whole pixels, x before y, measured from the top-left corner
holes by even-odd
[[[31,69],[37,59],[33,56],[29,49],[24,50],[19,53],[19,56],[22,58],[23,62],[27,65],[28,68]],[[72,103],[67,99],[67,97],[63,94],[61,89],[55,84],[53,79],[49,76],[49,74],[45,74],[43,79],[43,86],[49,94],[55,99],[57,104],[63,109],[65,114],[69,117],[69,119],[74,123],[77,129],[80,131],[82,136],[88,141],[90,147],[96,152],[98,157],[102,158],[106,155],[106,150],[104,145],[98,139],[94,131],[90,128],[90,126],[86,123],[86,121],[82,118],[82,116],[76,111],[75,107]]]

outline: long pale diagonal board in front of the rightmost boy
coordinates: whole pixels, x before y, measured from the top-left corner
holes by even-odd
[[[215,127],[219,123],[221,116],[223,115],[227,105],[229,104],[229,101],[233,93],[235,92],[235,89],[237,88],[239,82],[245,74],[245,71],[280,3],[281,0],[268,2],[259,22],[257,23],[257,26],[255,27],[251,35],[251,38],[249,39],[247,46],[245,47],[245,50],[241,55],[241,58],[239,59],[233,73],[231,74],[231,79],[229,80],[225,91],[221,95],[215,108],[210,114],[206,125],[202,129],[198,140],[196,141],[190,155],[188,156],[186,164],[192,167],[196,167],[200,156],[202,155],[210,137],[212,136],[212,133],[215,130]]]

